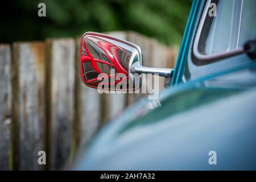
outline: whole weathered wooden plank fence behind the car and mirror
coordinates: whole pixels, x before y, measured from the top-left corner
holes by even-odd
[[[174,67],[176,48],[135,32],[108,34],[141,46],[146,66]],[[79,146],[143,96],[84,86],[78,48],[72,38],[0,44],[0,170],[68,168]],[[38,164],[39,151],[46,151],[46,165]]]

